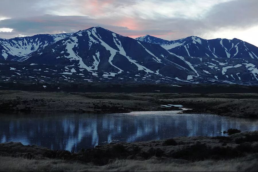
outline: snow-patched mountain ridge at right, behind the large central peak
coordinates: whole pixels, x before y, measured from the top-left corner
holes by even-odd
[[[258,48],[239,39],[211,39],[206,40],[190,36],[179,40],[168,41],[146,35],[136,40],[158,44],[179,56],[219,57],[219,58],[255,58],[258,60]]]

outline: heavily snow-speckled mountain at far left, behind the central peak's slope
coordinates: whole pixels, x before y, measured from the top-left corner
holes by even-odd
[[[16,57],[26,56],[31,52],[44,48],[45,46],[68,36],[71,36],[71,34],[39,34],[12,39],[0,38],[0,59],[12,60]]]

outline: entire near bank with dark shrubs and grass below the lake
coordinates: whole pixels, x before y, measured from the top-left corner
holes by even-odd
[[[258,132],[110,143],[77,153],[0,144],[3,171],[257,171]]]

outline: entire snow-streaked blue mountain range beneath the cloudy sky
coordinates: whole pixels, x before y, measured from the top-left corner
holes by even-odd
[[[0,38],[0,82],[258,83],[258,48],[239,39],[136,39],[101,27]]]

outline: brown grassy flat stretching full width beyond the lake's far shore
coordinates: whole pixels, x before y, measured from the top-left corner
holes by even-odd
[[[124,113],[178,110],[258,118],[258,93],[81,93],[0,91],[0,110],[8,112]]]

